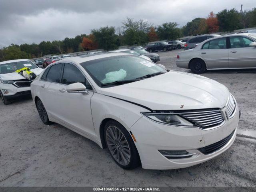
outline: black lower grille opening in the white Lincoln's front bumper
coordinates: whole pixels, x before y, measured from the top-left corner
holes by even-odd
[[[215,152],[216,150],[219,150],[220,148],[222,148],[224,145],[226,145],[228,143],[228,141],[234,135],[234,132],[235,132],[235,130],[226,138],[224,138],[214,144],[208,145],[206,147],[199,148],[198,150],[205,155],[211,154],[211,153]]]

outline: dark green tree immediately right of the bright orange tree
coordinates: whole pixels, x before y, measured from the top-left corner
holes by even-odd
[[[220,26],[220,31],[222,32],[232,32],[236,29],[242,28],[241,26],[241,14],[235,9],[232,8],[230,10],[224,9],[218,14],[216,14],[218,18],[218,23]]]

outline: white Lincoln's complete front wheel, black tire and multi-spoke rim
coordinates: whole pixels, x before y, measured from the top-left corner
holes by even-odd
[[[140,165],[140,157],[132,137],[120,123],[108,121],[104,127],[104,138],[108,152],[118,166],[131,170]]]

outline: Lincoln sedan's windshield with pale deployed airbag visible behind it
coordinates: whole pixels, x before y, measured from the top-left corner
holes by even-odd
[[[166,70],[153,62],[133,55],[112,56],[80,64],[100,87],[118,81],[137,81],[149,74],[162,74]],[[145,77],[146,78],[146,77]],[[112,84],[109,86],[116,86]]]

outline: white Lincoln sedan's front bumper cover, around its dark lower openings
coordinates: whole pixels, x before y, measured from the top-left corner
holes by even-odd
[[[168,126],[153,122],[145,116],[140,118],[130,130],[137,141],[135,145],[140,154],[142,168],[164,170],[193,166],[220,155],[234,142],[238,121],[237,107],[233,118],[222,126],[210,130]],[[233,131],[232,137],[220,149],[210,154],[203,154],[198,150],[223,140]],[[188,158],[168,159],[159,150],[186,150],[193,155]]]

